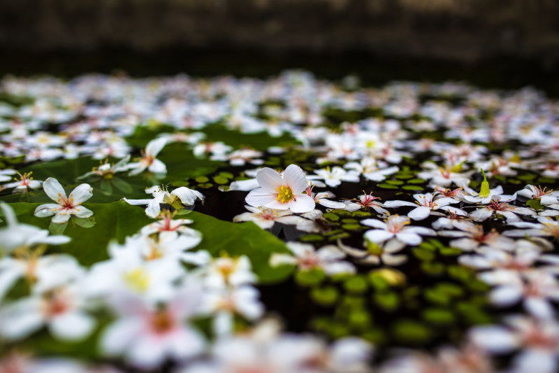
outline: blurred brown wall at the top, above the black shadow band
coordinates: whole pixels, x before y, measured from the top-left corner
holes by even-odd
[[[0,48],[241,48],[559,61],[558,0],[0,1]]]

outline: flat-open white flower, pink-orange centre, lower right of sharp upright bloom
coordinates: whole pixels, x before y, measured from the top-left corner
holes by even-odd
[[[376,228],[365,232],[365,239],[375,244],[395,238],[404,244],[417,246],[423,241],[421,235],[435,235],[434,230],[426,227],[407,227],[409,223],[407,216],[399,215],[391,215],[384,222],[377,219],[361,220],[361,224]]]

